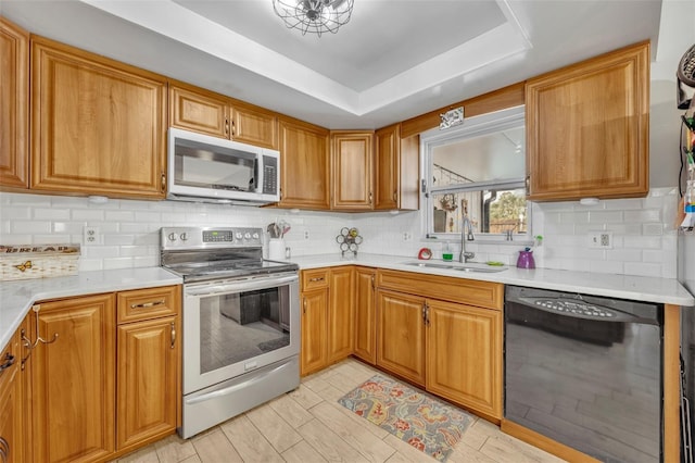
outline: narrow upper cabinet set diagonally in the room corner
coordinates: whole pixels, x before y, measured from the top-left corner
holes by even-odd
[[[331,133],[331,209],[372,209],[372,132]]]

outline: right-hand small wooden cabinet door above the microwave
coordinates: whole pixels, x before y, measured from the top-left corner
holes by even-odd
[[[231,138],[235,141],[278,149],[278,118],[274,113],[236,102],[231,117]]]

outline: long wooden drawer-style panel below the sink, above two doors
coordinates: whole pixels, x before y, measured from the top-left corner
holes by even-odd
[[[409,295],[502,310],[504,286],[500,283],[415,272],[379,270],[377,286]]]

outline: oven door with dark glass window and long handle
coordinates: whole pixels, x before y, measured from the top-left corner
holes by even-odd
[[[299,354],[296,273],[188,284],[184,299],[184,395]]]

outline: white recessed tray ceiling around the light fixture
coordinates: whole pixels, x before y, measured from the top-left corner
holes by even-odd
[[[31,33],[328,128],[378,128],[645,39],[655,57],[660,13],[661,0],[355,0],[319,38],[286,28],[271,0],[0,0]]]

